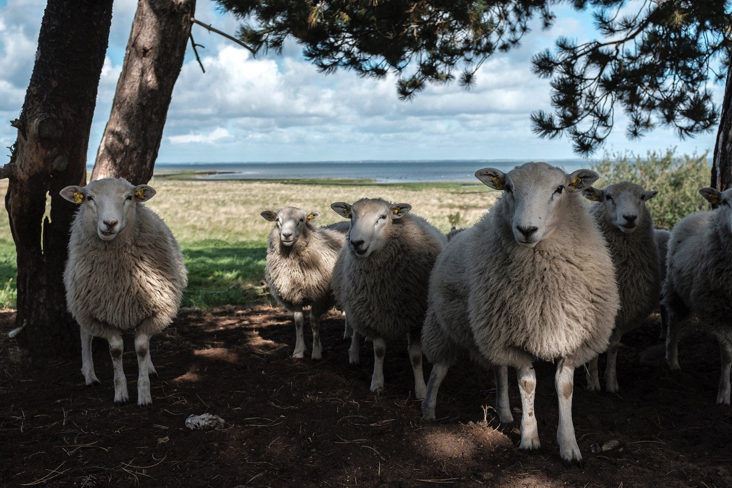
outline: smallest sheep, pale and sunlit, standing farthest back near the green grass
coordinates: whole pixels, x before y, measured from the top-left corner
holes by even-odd
[[[302,308],[310,305],[310,329],[313,331],[313,351],[310,359],[323,358],[320,340],[321,315],[335,304],[331,287],[333,265],[343,247],[348,228],[343,222],[318,228],[316,211],[306,212],[293,206],[260,214],[276,222],[269,233],[264,277],[272,296],[288,312],[295,323],[293,358],[305,356],[305,322]]]

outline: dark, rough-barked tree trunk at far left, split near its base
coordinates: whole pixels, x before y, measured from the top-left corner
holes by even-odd
[[[59,191],[86,181],[111,19],[112,0],[48,0],[26,100],[12,121],[18,139],[5,167],[5,207],[18,255],[18,342],[34,358],[78,349],[62,279],[75,208]]]

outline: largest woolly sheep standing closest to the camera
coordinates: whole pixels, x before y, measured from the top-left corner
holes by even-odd
[[[572,425],[574,370],[607,348],[619,308],[610,252],[580,194],[597,173],[567,175],[530,162],[508,173],[485,168],[476,176],[504,194],[450,241],[430,277],[422,347],[434,364],[422,403],[425,418],[433,417],[456,351],[467,348],[482,364],[517,370],[519,448],[537,450],[532,364],[557,360],[559,454],[565,466],[581,466]],[[498,379],[499,418],[509,421],[506,382]]]

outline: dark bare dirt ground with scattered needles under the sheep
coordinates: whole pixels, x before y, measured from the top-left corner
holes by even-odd
[[[362,347],[360,367],[349,365],[336,313],[323,326],[324,359],[314,362],[291,359],[294,326],[280,309],[184,310],[152,340],[159,376],[152,378],[154,404],[142,409],[134,353],[124,355],[133,403],[117,408],[104,342],[94,342],[102,385],[87,388],[78,357],[29,364],[7,337],[13,321],[12,312],[0,314],[3,487],[79,487],[91,476],[96,484],[85,486],[732,486],[731,408],[714,403],[719,349],[693,326],[679,348],[681,372],[665,367],[657,320],[624,338],[621,394],[584,391],[578,369],[573,416],[584,469],[567,470],[556,445],[552,364],[537,365],[542,449],[526,455],[517,448],[518,420],[498,424],[481,407],[493,405],[492,375],[457,364],[438,396],[440,418],[424,422],[411,395],[406,344],[387,346],[386,388],[376,396],[370,345]],[[306,342],[309,350],[309,334]],[[512,372],[509,378],[518,419],[518,387]],[[201,413],[225,424],[185,427]],[[603,444],[607,451],[594,446]]]

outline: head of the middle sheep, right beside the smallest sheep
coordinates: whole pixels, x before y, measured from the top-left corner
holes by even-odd
[[[381,198],[362,198],[353,205],[346,202],[331,204],[337,214],[351,219],[348,245],[359,258],[368,258],[384,247],[396,219],[411,210],[408,203],[389,203]]]

